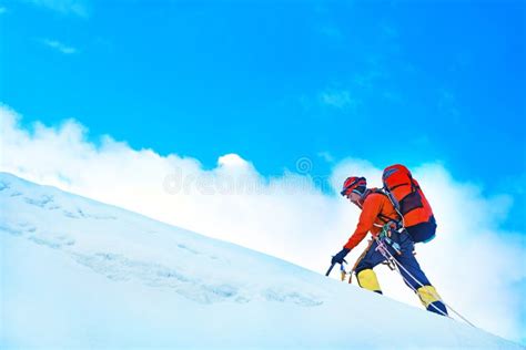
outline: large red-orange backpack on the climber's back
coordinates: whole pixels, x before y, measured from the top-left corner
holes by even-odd
[[[388,166],[382,175],[384,191],[395,209],[403,217],[403,225],[411,228],[433,220],[433,210],[418,182],[401,164]]]

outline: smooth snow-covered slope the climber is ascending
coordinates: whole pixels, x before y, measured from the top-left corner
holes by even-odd
[[[520,348],[286,261],[6,173],[0,210],[2,349]]]

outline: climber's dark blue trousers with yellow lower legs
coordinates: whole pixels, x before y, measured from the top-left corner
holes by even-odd
[[[398,255],[396,250],[385,241],[384,245],[402,266],[398,268],[398,270],[402,274],[405,284],[411,287],[411,289],[416,291],[427,310],[442,313],[437,310],[439,309],[444,313],[447,313],[444,302],[442,302],[439,299],[438,294],[431,285],[424,271],[421,269],[418,261],[413,255],[414,243],[411,239],[411,236],[404,230],[402,234],[393,233],[391,238],[393,241],[399,245],[399,251],[402,254]],[[355,272],[361,287],[382,294],[382,289],[380,288],[380,284],[377,282],[373,268],[385,261],[386,257],[384,257],[384,255],[377,248],[378,243],[375,240],[370,246],[364,257],[356,265]],[[409,276],[409,274],[414,278]]]

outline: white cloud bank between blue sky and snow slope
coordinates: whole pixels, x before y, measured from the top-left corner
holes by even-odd
[[[195,158],[136,151],[109,136],[95,146],[75,121],[55,128],[36,124],[30,132],[6,106],[0,107],[0,119],[1,171],[322,274],[356,224],[357,209],[336,195],[318,191],[308,174],[265,177],[236,154],[224,155],[215,168],[204,169]],[[428,278],[446,302],[475,325],[519,339],[526,329],[520,320],[525,243],[518,234],[500,228],[510,198],[487,198],[477,186],[455,181],[439,164],[413,171],[439,225],[435,240],[417,246]],[[326,181],[340,188],[352,174],[366,176],[370,185],[380,186],[381,169],[361,159],[337,163]],[[361,249],[355,249],[350,260],[356,259]],[[377,271],[387,297],[418,305],[398,276],[384,267]]]

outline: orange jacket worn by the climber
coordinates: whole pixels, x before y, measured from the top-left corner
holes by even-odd
[[[344,248],[353,249],[356,247],[367,236],[368,231],[376,237],[390,219],[399,220],[399,216],[390,198],[375,192],[366,194],[356,229]]]

